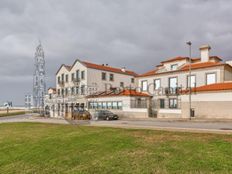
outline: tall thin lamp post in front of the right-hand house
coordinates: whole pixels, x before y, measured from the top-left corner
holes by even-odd
[[[188,81],[188,85],[189,85],[189,119],[191,120],[192,117],[192,59],[191,59],[191,52],[192,52],[192,42],[189,41],[186,43],[187,45],[189,45],[189,81]]]

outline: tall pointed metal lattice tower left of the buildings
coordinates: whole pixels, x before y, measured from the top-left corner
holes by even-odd
[[[35,69],[33,75],[33,104],[37,109],[44,107],[45,83],[45,59],[41,43],[36,47]]]

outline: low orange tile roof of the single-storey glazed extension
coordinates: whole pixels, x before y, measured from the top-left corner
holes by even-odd
[[[87,98],[99,98],[99,97],[117,97],[117,96],[134,96],[134,97],[150,97],[150,95],[142,92],[138,92],[135,89],[124,89],[121,91],[104,91],[89,95]]]

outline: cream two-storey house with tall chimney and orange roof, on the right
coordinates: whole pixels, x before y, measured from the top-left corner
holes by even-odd
[[[139,89],[152,95],[153,117],[184,118],[181,91],[214,83],[232,81],[232,67],[217,56],[209,56],[210,46],[200,48],[201,57],[191,59],[189,83],[188,57],[175,57],[161,62],[153,70],[137,77]],[[186,98],[186,97],[185,97]],[[193,108],[194,109],[194,108]]]

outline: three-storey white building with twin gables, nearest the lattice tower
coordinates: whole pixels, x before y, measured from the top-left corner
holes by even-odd
[[[111,88],[134,88],[136,76],[125,68],[76,60],[72,66],[59,68],[56,92],[46,96],[46,105],[52,110],[51,116],[71,118],[74,107],[87,108],[86,96]]]

